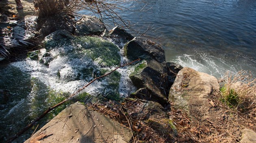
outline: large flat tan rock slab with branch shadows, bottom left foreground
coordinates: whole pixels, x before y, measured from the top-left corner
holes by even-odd
[[[131,136],[128,128],[76,102],[25,143],[127,143]]]

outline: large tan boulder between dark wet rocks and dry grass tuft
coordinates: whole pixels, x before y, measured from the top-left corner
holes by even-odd
[[[218,91],[219,83],[214,76],[184,67],[178,72],[171,86],[169,102],[174,108],[187,112],[192,118],[218,123],[215,117],[219,109],[211,100],[211,97],[217,95]]]

